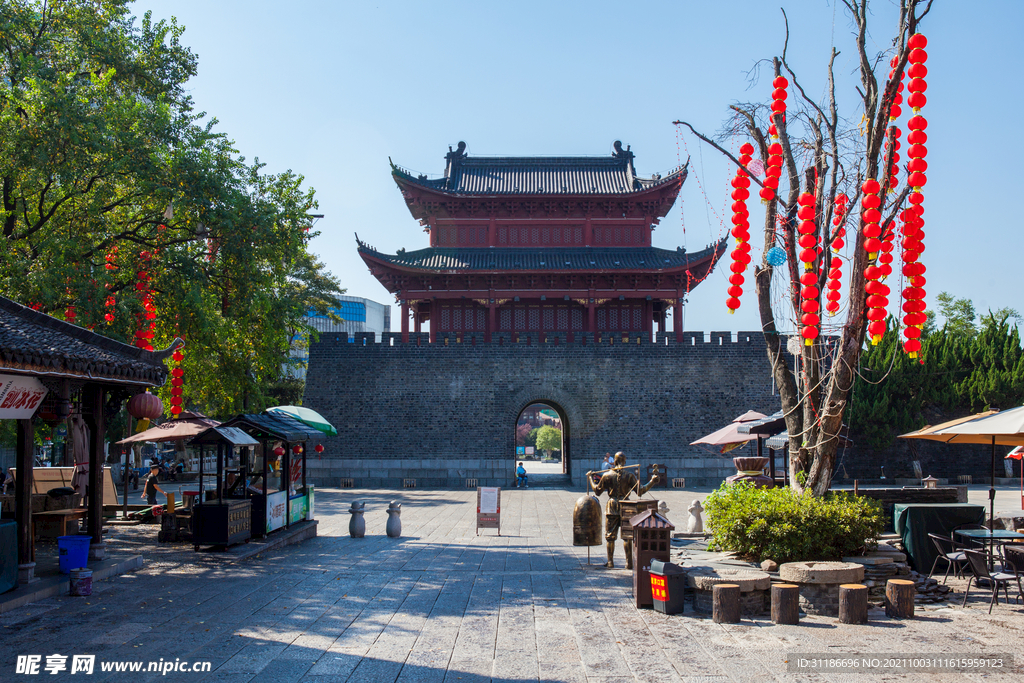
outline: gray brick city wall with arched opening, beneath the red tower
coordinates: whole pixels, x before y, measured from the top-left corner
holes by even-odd
[[[323,458],[309,459],[319,485],[417,486],[512,483],[514,428],[529,403],[563,414],[572,483],[605,453],[630,463],[665,464],[670,480],[718,485],[735,473],[732,455],[689,443],[748,410],[778,410],[760,333],[685,333],[657,342],[614,343],[592,334],[566,343],[526,335],[325,334],[311,345],[304,404],[338,429]],[[671,481],[670,481],[671,485]]]

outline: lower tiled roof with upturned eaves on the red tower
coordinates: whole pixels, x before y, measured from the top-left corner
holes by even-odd
[[[598,271],[598,270],[676,270],[699,263],[725,252],[726,241],[691,254],[685,250],[656,247],[575,249],[451,249],[432,247],[398,254],[382,254],[359,244],[359,252],[372,255],[398,268],[424,271]]]

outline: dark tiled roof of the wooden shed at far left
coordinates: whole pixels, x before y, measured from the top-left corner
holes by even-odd
[[[0,297],[0,373],[159,386],[178,343],[146,351]]]

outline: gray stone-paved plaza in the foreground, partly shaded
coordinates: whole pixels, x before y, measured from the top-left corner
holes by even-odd
[[[693,492],[659,492],[685,523]],[[631,603],[631,574],[606,570],[603,547],[571,546],[571,490],[506,490],[502,536],[475,535],[475,492],[317,490],[319,538],[225,562],[190,546],[150,544],[156,526],[112,529],[112,549],[146,548],[144,567],[0,616],[0,681],[866,681],[1021,680],[1021,674],[786,673],[790,653],[1019,653],[1024,605],[987,613],[871,610],[866,626],[807,616],[717,625]],[[974,496],[972,496],[974,498]],[[348,504],[367,503],[367,538],[348,537]],[[384,536],[387,502],[403,536]],[[140,545],[144,542],[144,545]],[[620,558],[620,566],[622,560]],[[951,582],[963,596],[964,582]],[[975,598],[974,596],[977,595]],[[14,675],[18,654],[94,654],[91,676]],[[210,673],[102,673],[100,661],[209,661]],[[70,669],[69,656],[69,669]]]

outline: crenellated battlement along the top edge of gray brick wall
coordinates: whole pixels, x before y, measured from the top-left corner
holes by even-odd
[[[653,337],[653,338],[652,338]],[[483,333],[443,333],[436,336],[436,340],[431,343],[430,335],[425,332],[409,333],[409,341],[402,341],[400,332],[381,333],[380,339],[373,332],[356,332],[349,335],[345,332],[322,333],[317,344],[328,346],[351,345],[358,346],[420,346],[420,347],[441,347],[441,346],[751,346],[753,344],[763,344],[764,335],[760,331],[756,332],[684,332],[682,340],[678,341],[673,332],[658,332],[655,335],[639,333],[593,333],[577,332],[571,338],[565,332],[547,332],[543,339],[537,332],[523,332],[513,334],[509,332],[496,332],[492,335],[489,342],[485,340]]]

